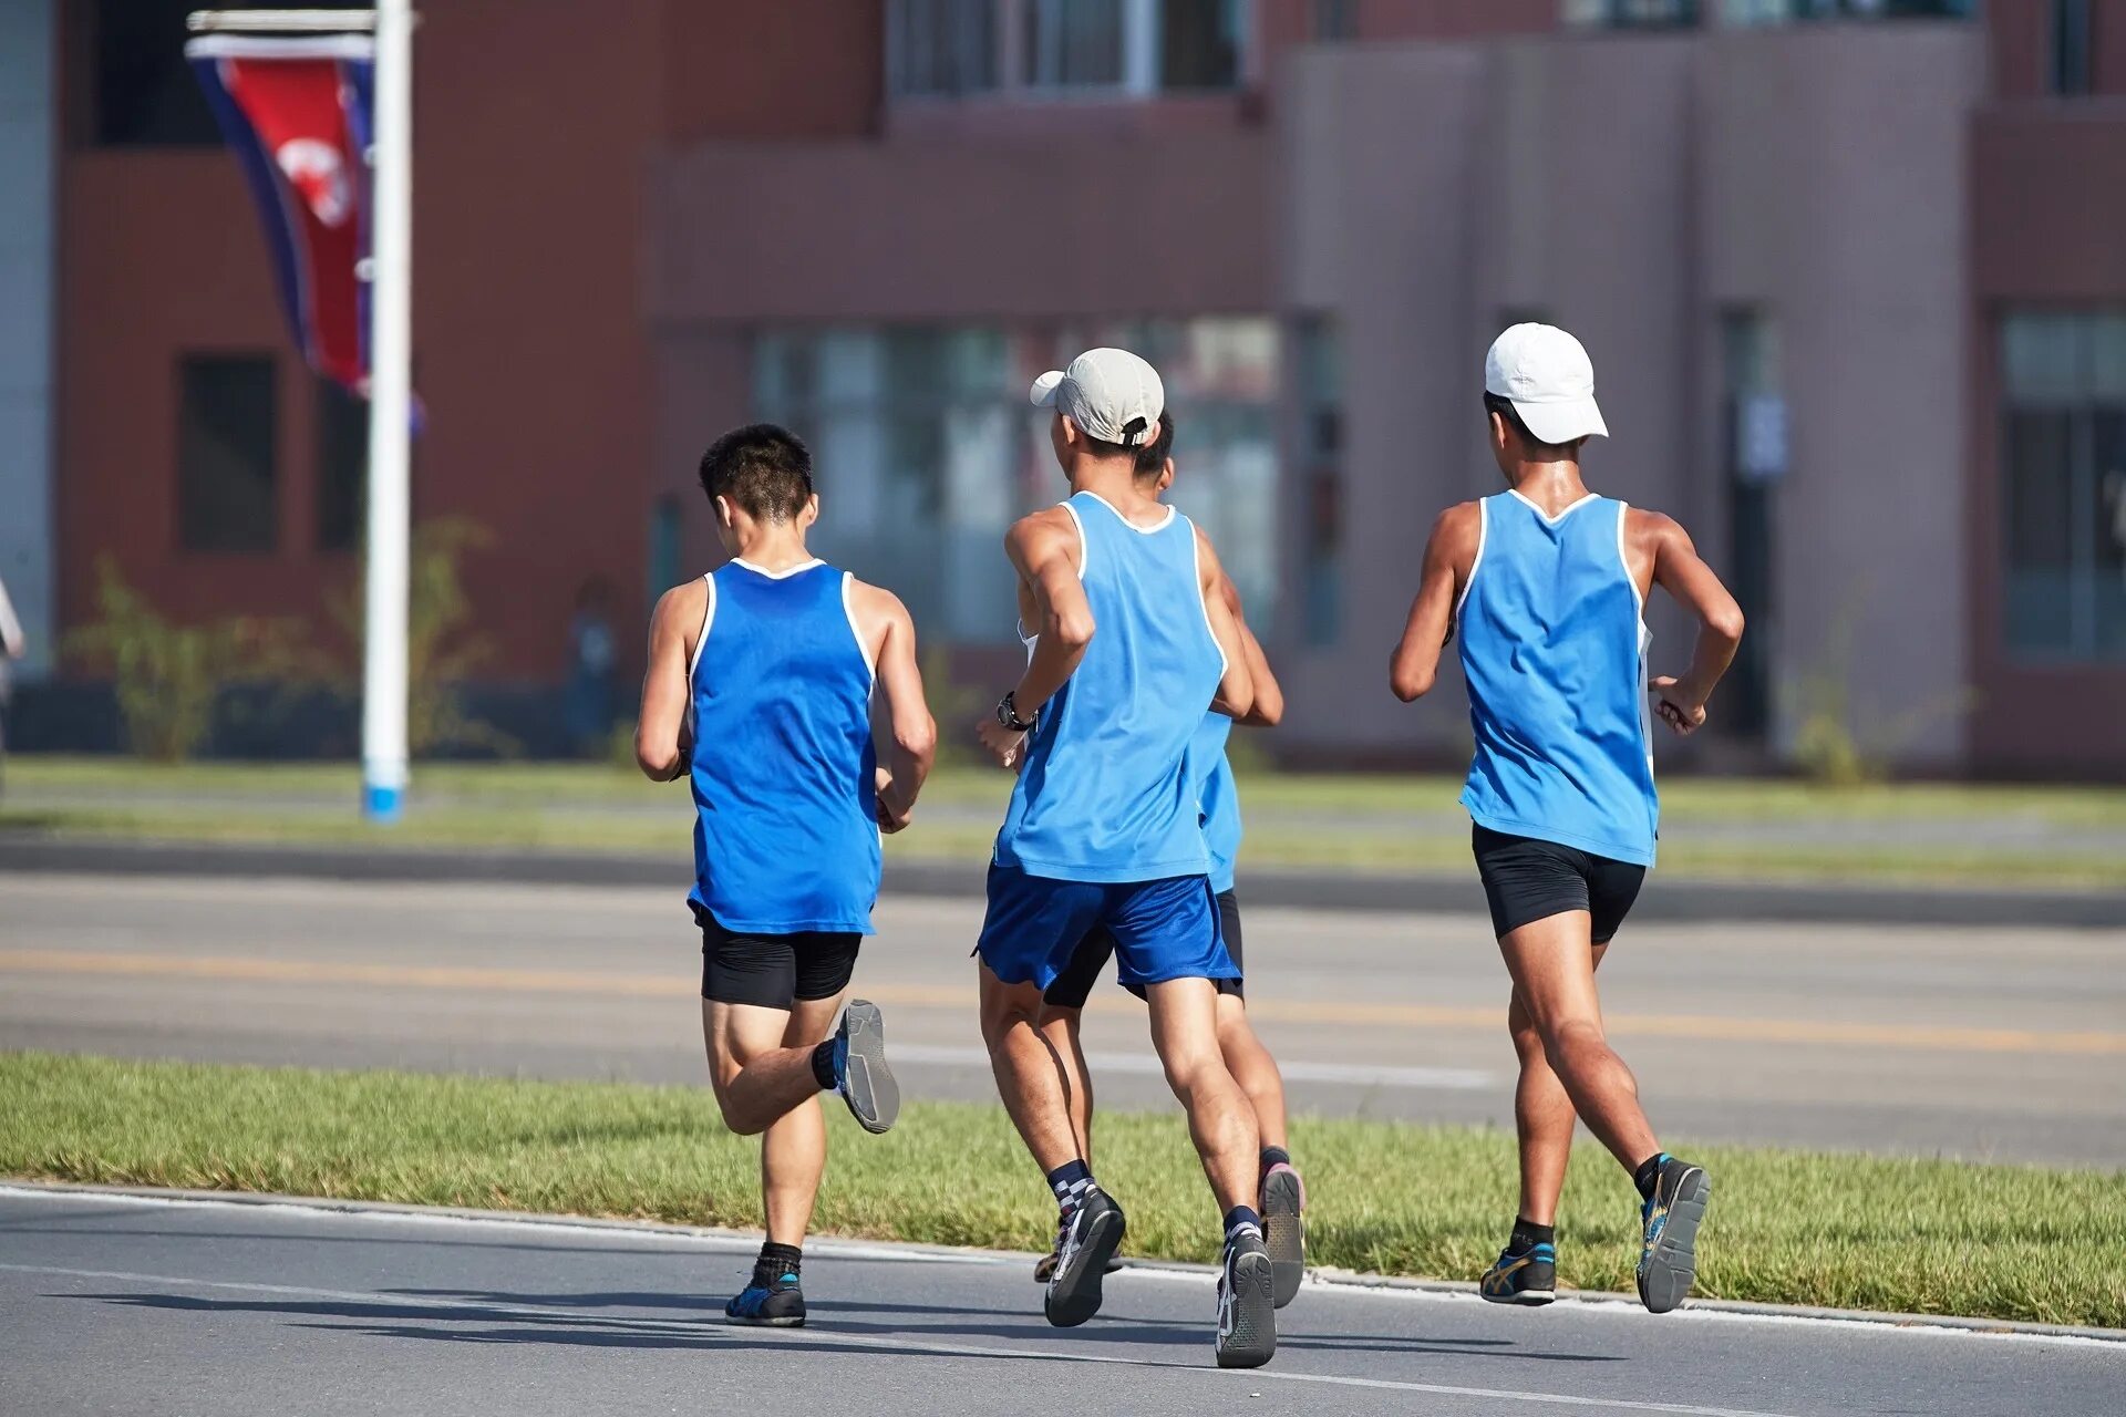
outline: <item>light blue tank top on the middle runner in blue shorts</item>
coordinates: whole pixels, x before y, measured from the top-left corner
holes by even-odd
[[[1203,875],[1188,744],[1225,678],[1197,574],[1195,525],[1169,510],[1133,527],[1093,493],[1078,523],[1078,578],[1093,644],[1042,705],[995,860],[1065,882]]]

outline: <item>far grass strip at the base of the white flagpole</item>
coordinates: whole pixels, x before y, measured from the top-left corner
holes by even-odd
[[[980,860],[1010,780],[952,767],[925,790],[916,826],[889,841],[914,860]],[[408,818],[391,831],[353,809],[357,769],[340,763],[13,758],[0,831],[70,837],[668,854],[685,850],[685,797],[602,763],[436,763],[415,773]],[[1410,773],[1242,775],[1244,867],[1467,871],[1458,784]],[[670,814],[659,807],[670,807]],[[2122,888],[2126,852],[2075,833],[2126,833],[2122,788],[1882,784],[1684,778],[1663,786],[1663,871],[1677,875]],[[1873,831],[1811,837],[1805,826]],[[1907,822],[1971,822],[1971,841],[1905,841]],[[1699,826],[1726,829],[1694,831]],[[1796,831],[1799,826],[1799,831]],[[2003,826],[2028,829],[2028,839]],[[1741,829],[1741,835],[1737,835]]]

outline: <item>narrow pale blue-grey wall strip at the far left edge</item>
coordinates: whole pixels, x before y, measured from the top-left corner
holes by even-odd
[[[28,665],[53,659],[55,0],[0,0],[0,580]]]

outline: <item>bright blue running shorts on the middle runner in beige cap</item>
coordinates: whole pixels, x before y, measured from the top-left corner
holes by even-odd
[[[974,952],[1006,984],[1046,990],[1095,926],[1114,935],[1114,973],[1125,986],[1239,977],[1208,875],[1059,882],[991,865],[989,914]]]

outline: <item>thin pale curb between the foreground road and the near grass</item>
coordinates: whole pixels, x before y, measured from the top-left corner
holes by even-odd
[[[757,1230],[725,1230],[721,1226],[672,1226],[655,1219],[602,1219],[591,1215],[546,1215],[538,1211],[480,1211],[470,1207],[432,1207],[432,1205],[398,1205],[389,1200],[334,1200],[327,1196],[279,1196],[272,1192],[223,1192],[223,1190],[174,1190],[155,1185],[85,1185],[77,1181],[30,1181],[17,1177],[0,1177],[0,1190],[28,1190],[47,1192],[55,1196],[119,1196],[130,1200],[162,1200],[176,1205],[255,1205],[255,1207],[302,1207],[308,1211],[330,1211],[344,1215],[410,1215],[417,1219],[463,1219],[478,1224],[508,1224],[508,1226],[546,1226],[553,1230],[587,1230],[587,1232],[621,1232],[621,1234],[672,1234],[691,1239],[716,1239],[716,1241],[744,1241],[753,1243],[759,1239]],[[812,1241],[808,1241],[810,1245]],[[1031,1253],[1010,1251],[1010,1249],[976,1249],[961,1245],[914,1245],[908,1241],[838,1241],[833,1236],[819,1236],[819,1249],[831,1251],[833,1245],[861,1245],[865,1249],[897,1249],[912,1256],[976,1256],[984,1260],[1008,1260],[1025,1262],[1029,1268],[1035,1260]],[[1152,1270],[1152,1273],[1174,1273],[1174,1275],[1216,1275],[1216,1266],[1210,1264],[1180,1264],[1171,1260],[1123,1260],[1125,1268]],[[1310,1283],[1350,1287],[1350,1290],[1405,1290],[1418,1294],[1461,1294],[1475,1296],[1475,1287],[1469,1283],[1450,1283],[1441,1279],[1393,1279],[1386,1275],[1359,1275],[1354,1270],[1342,1268],[1310,1268]],[[1629,1294],[1603,1294],[1603,1292],[1582,1292],[1571,1290],[1558,1296],[1560,1304],[1594,1304],[1637,1311],[1639,1304]],[[1694,1298],[1684,1304],[1686,1309],[1701,1309],[1709,1313],[1733,1313],[1758,1319],[1805,1319],[1824,1324],[1873,1324],[1884,1328],[1935,1328],[1935,1330],[1956,1330],[1971,1334],[2020,1334],[2026,1338],[2083,1338],[2092,1343],[2115,1343],[2126,1347],[2126,1330],[2120,1328],[2077,1328],[2073,1324],[2015,1324],[2007,1319],[1967,1319],[1958,1315],[1939,1313],[1875,1313],[1867,1309],[1816,1309],[1807,1304],[1756,1304],[1748,1300],[1726,1300],[1726,1298]]]

